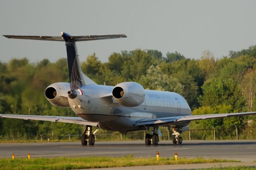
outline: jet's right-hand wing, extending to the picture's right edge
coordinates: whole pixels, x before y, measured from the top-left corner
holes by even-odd
[[[178,116],[178,117],[162,117],[162,118],[148,118],[140,119],[136,122],[135,126],[142,125],[168,125],[184,121],[196,121],[201,119],[216,119],[222,117],[236,117],[236,116],[247,116],[256,115],[256,112],[244,112],[244,113],[223,113],[223,114],[212,114],[212,115],[190,115],[190,116]]]

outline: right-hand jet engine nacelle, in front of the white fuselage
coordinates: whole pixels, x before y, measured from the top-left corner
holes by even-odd
[[[114,87],[112,96],[123,106],[135,107],[143,103],[145,91],[142,85],[138,83],[124,82]]]

